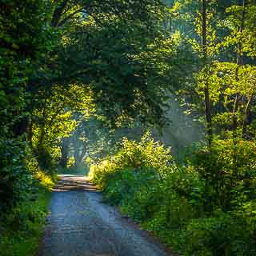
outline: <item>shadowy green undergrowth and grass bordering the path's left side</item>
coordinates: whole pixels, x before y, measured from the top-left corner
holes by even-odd
[[[40,169],[24,143],[2,140],[0,150],[6,148],[12,154],[1,156],[0,254],[34,256],[56,176]]]

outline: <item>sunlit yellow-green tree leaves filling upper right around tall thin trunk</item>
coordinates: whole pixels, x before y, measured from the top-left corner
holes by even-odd
[[[195,103],[190,105],[193,110],[195,107],[195,110],[202,111],[201,102],[205,98],[205,90],[209,88],[215,132],[238,128],[243,130],[245,136],[245,130],[253,126],[251,117],[254,114],[254,2],[246,1],[243,6],[243,2],[207,1],[205,58],[202,58],[201,45],[202,2],[175,2],[180,6],[179,15],[173,21],[174,28],[182,31],[183,22],[186,22],[189,28],[182,38],[190,43],[193,54],[201,58],[201,62],[191,65],[194,70],[191,69],[190,76],[194,76],[195,80],[188,80],[190,83],[186,83],[178,95],[187,97],[187,102],[192,100]],[[176,24],[182,24],[182,28]],[[196,94],[200,96],[200,101],[197,97],[191,98],[190,95]]]

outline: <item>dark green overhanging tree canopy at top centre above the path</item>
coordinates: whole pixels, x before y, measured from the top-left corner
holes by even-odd
[[[169,67],[175,44],[159,26],[161,2],[117,0],[102,6],[80,0],[59,7],[58,83],[90,86],[98,112],[112,124],[127,118],[164,122],[170,85],[163,67]],[[74,16],[61,22],[66,11]],[[150,60],[157,56],[155,63]]]

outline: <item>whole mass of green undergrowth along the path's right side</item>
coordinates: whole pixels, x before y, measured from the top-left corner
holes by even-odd
[[[256,254],[255,144],[214,139],[180,166],[146,135],[90,168],[106,202],[180,255]]]

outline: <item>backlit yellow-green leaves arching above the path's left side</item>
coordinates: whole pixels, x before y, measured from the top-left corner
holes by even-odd
[[[41,105],[32,116],[32,146],[39,152],[46,150],[57,160],[62,138],[70,137],[78,126],[76,116],[89,118],[94,114],[93,95],[87,86],[71,85],[65,89],[53,86],[50,94],[44,92],[38,96]]]

